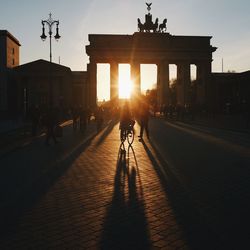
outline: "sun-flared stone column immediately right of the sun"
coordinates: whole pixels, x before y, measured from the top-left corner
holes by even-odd
[[[141,67],[139,62],[130,64],[132,86],[132,97],[138,97],[141,94]]]

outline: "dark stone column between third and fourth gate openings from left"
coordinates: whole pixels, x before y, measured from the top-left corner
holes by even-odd
[[[157,65],[157,102],[159,106],[169,104],[169,63],[162,61]]]

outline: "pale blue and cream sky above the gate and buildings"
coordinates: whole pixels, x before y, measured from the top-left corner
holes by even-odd
[[[151,0],[152,16],[168,19],[172,35],[212,36],[212,71],[250,70],[249,0]],[[59,42],[52,41],[53,62],[86,70],[88,34],[133,34],[147,13],[144,0],[0,0],[0,29],[21,43],[20,64],[49,60],[49,41],[40,39],[41,20],[59,19]],[[152,65],[151,65],[152,66]],[[154,66],[144,69],[155,78]],[[152,74],[153,72],[153,74]],[[151,79],[152,78],[152,79]],[[150,85],[150,83],[148,83]],[[146,87],[145,87],[146,88]],[[103,98],[103,97],[99,97]]]

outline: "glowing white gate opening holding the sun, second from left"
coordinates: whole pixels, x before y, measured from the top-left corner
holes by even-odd
[[[130,65],[119,64],[119,98],[129,99],[132,92],[132,86]]]

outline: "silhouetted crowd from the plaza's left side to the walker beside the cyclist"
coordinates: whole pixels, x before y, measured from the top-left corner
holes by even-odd
[[[51,141],[55,144],[59,142],[58,138],[63,136],[61,124],[66,120],[72,120],[74,133],[79,131],[82,134],[86,132],[91,121],[95,123],[97,133],[102,129],[105,120],[120,119],[119,128],[121,130],[131,123],[134,126],[135,121],[137,121],[140,125],[139,141],[143,140],[144,131],[149,138],[149,105],[145,102],[140,102],[135,106],[126,101],[122,106],[99,106],[95,110],[82,106],[74,106],[69,110],[62,110],[59,107],[41,108],[35,106],[29,110],[29,119],[32,124],[32,136],[35,137],[45,132],[46,145],[50,145]]]

